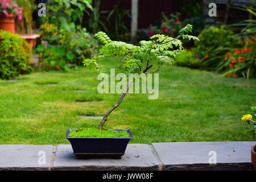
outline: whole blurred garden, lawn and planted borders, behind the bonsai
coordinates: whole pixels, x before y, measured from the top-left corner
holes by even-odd
[[[1,0],[0,144],[68,143],[67,129],[97,127],[85,118],[120,96],[99,94],[84,67],[102,46],[96,32],[139,46],[188,23],[200,42],[182,40],[161,67],[158,100],[129,94],[106,128],[130,129],[133,143],[251,140],[241,116],[256,102],[255,12],[255,0]]]

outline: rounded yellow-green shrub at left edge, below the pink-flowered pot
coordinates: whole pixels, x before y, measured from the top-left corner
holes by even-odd
[[[10,79],[32,71],[31,50],[26,40],[0,30],[0,77]]]

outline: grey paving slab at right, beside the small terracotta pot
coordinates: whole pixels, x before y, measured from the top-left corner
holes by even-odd
[[[250,148],[256,142],[152,143],[164,170],[253,170]],[[209,164],[216,152],[217,164]],[[212,161],[212,160],[211,160]]]

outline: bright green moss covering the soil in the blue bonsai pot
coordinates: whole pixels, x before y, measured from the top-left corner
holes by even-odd
[[[95,128],[72,130],[69,137],[83,137],[83,138],[129,138],[130,135],[126,130],[98,130]]]

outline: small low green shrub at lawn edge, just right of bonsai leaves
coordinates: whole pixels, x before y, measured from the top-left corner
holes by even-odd
[[[185,51],[178,55],[175,59],[174,65],[180,67],[189,67],[189,68],[200,68],[202,60],[195,58],[195,53],[193,51]]]

